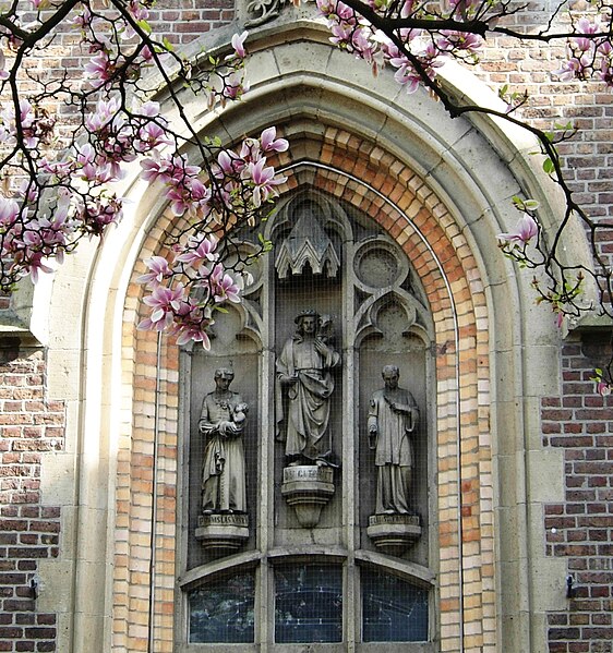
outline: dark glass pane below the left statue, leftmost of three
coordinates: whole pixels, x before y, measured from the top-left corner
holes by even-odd
[[[190,643],[253,642],[254,587],[241,573],[190,592]]]

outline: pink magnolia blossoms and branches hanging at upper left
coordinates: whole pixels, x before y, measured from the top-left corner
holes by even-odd
[[[25,275],[36,281],[83,238],[99,238],[119,222],[123,201],[113,186],[127,165],[139,160],[141,177],[156,184],[175,216],[165,243],[168,259],[145,261],[148,273],[140,281],[151,311],[140,328],[208,347],[215,312],[240,301],[247,264],[269,246],[262,241],[244,253],[232,230],[257,225],[285,181],[267,157],[288,143],[274,128],[237,149],[201,137],[178,88],[202,96],[211,109],[240,99],[248,88],[247,33],[232,38],[225,57],[187,61],[153,33],[152,4],[109,0],[96,9],[88,0],[33,0],[0,15],[0,94],[11,99],[0,113],[0,288],[11,291]],[[25,70],[26,58],[43,60],[61,33],[82,39],[82,75]],[[157,71],[159,88],[145,84],[147,69]],[[161,88],[175,122],[152,99]],[[61,124],[58,117],[67,109]]]

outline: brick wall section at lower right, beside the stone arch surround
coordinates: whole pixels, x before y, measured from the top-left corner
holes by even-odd
[[[610,354],[586,334],[563,350],[562,397],[542,400],[543,446],[564,450],[565,501],[545,506],[546,554],[565,557],[575,596],[549,615],[551,653],[613,650],[613,396],[594,394]]]

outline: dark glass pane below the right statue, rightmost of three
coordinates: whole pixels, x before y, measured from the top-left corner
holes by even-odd
[[[362,569],[364,642],[428,640],[428,591],[381,570]]]

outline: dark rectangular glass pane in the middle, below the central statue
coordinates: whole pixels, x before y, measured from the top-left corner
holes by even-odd
[[[295,565],[275,569],[275,641],[342,641],[342,569]]]

